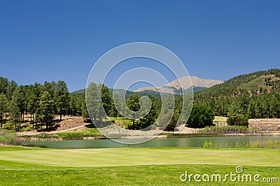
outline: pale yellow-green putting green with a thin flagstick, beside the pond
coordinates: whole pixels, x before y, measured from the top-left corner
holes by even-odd
[[[280,151],[264,149],[130,148],[128,151],[127,148],[57,150],[12,147],[0,148],[0,152],[2,160],[50,166],[96,167],[158,164],[280,166]]]

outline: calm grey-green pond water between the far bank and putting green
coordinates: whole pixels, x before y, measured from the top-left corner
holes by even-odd
[[[126,140],[124,140],[125,142]],[[130,139],[130,142],[141,139]],[[232,148],[236,145],[242,147],[246,144],[265,144],[270,141],[280,141],[280,136],[222,136],[222,137],[195,137],[195,138],[154,138],[146,143],[130,145],[130,147],[189,147],[202,148],[204,142],[211,141],[214,148]],[[33,145],[43,145],[46,148],[125,148],[127,145],[116,143],[109,139],[99,140],[68,140],[68,141],[34,141]]]

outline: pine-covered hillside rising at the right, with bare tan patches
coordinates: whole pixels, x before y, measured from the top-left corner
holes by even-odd
[[[250,118],[280,117],[280,69],[230,78],[196,92],[195,103],[211,107],[215,115],[242,120],[244,124]]]

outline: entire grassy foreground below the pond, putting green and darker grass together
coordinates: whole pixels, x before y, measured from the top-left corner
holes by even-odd
[[[182,183],[181,174],[225,175],[235,173],[236,166],[280,182],[280,150],[130,148],[129,156],[127,148],[0,147],[0,185],[197,185]]]

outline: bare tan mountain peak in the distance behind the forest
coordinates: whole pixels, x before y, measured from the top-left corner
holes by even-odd
[[[189,77],[191,82],[189,80]],[[172,82],[169,83],[169,85],[168,84],[162,85],[160,87],[143,87],[138,90],[134,90],[133,92],[153,91],[153,92],[162,92],[167,94],[181,94],[181,91],[190,92],[192,87],[195,92],[197,90],[204,90],[214,85],[223,83],[222,80],[208,80],[208,79],[198,78],[197,76],[189,76],[189,77],[186,76],[173,80]]]

